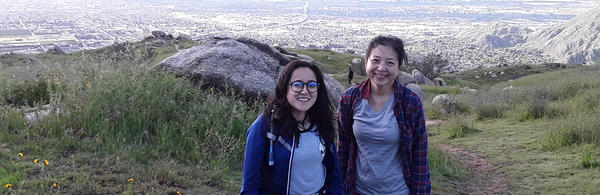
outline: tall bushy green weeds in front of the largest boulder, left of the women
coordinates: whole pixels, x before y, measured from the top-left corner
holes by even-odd
[[[159,156],[207,166],[237,162],[259,112],[231,91],[201,90],[167,73],[123,72],[93,83],[70,103],[63,123],[97,137],[101,151],[131,145],[143,148],[137,153],[152,151],[134,154],[143,162]]]

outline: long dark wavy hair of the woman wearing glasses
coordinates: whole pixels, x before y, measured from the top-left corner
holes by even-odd
[[[275,92],[269,96],[268,104],[263,110],[264,116],[268,119],[271,117],[271,109],[275,110],[274,120],[276,131],[279,136],[294,136],[298,139],[300,130],[298,129],[298,121],[294,119],[291,112],[291,106],[286,99],[288,90],[290,90],[290,78],[294,70],[307,67],[310,68],[317,77],[319,89],[317,90],[317,100],[315,104],[308,109],[306,114],[312,120],[311,123],[318,126],[319,135],[325,140],[325,145],[329,146],[333,143],[335,130],[333,127],[333,108],[327,95],[327,87],[323,79],[323,72],[316,64],[295,60],[288,63],[277,77]],[[299,140],[298,140],[299,141]],[[299,143],[299,142],[298,142]]]

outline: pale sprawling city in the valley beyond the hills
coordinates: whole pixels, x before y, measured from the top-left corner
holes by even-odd
[[[94,49],[139,41],[159,30],[193,39],[250,37],[281,47],[363,54],[369,39],[391,34],[406,41],[409,60],[438,53],[452,70],[554,62],[554,56],[532,47],[482,47],[465,32],[502,24],[526,35],[600,6],[585,0],[0,1],[0,53]]]

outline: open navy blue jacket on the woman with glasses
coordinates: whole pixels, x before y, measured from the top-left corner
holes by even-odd
[[[250,126],[247,132],[246,153],[244,154],[244,180],[240,194],[288,194],[290,156],[296,143],[291,136],[278,136],[273,141],[275,165],[268,165],[269,122],[263,114]],[[274,131],[276,132],[276,131]],[[343,194],[343,183],[337,160],[335,144],[330,144],[323,159],[327,169],[325,178],[326,194]],[[291,149],[291,150],[290,150]]]

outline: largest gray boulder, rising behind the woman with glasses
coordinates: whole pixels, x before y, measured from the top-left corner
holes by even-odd
[[[266,98],[275,90],[283,67],[298,55],[248,38],[213,37],[204,44],[182,50],[163,60],[155,69],[173,72],[217,88],[233,88],[249,97]],[[329,97],[337,102],[343,86],[324,75]]]

